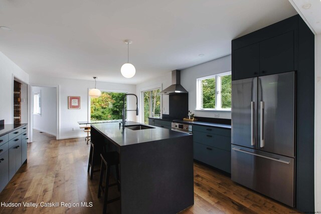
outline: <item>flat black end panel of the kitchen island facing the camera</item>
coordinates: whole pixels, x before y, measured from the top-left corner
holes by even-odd
[[[121,213],[177,213],[194,204],[193,135],[121,147]]]

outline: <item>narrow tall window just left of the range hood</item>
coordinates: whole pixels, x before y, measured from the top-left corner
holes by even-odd
[[[148,124],[148,117],[161,116],[161,89],[154,89],[150,91],[143,91],[142,106],[144,108],[142,113],[142,121]]]

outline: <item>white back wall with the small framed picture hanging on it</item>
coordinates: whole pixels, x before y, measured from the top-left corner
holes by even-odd
[[[79,128],[77,121],[88,119],[88,89],[95,86],[93,79],[87,81],[30,75],[30,84],[59,88],[59,139],[86,136],[83,129]],[[97,82],[97,88],[105,91],[136,93],[136,86],[129,84]],[[68,109],[68,96],[80,96],[80,109]],[[136,107],[136,100],[133,98],[133,96],[129,98],[128,109]],[[128,120],[136,120],[134,112],[128,112]],[[75,131],[72,130],[73,128]]]

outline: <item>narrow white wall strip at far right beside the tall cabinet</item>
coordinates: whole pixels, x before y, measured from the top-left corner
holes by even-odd
[[[314,202],[321,211],[321,34],[315,36]]]

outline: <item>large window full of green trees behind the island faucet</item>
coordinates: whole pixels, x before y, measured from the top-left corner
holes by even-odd
[[[90,120],[120,120],[124,95],[126,93],[102,91],[100,97],[90,97]]]

